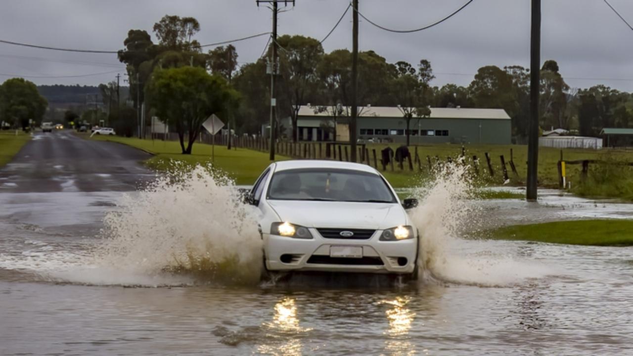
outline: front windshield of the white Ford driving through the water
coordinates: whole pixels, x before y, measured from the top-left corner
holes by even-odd
[[[328,168],[276,172],[270,181],[268,199],[396,203],[396,197],[380,175]]]

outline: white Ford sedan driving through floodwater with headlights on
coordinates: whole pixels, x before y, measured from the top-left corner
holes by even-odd
[[[418,231],[386,179],[359,163],[272,163],[246,194],[258,207],[268,271],[417,277]]]

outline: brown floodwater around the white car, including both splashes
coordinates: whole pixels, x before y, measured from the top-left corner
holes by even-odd
[[[253,283],[258,237],[239,229],[248,207],[212,177],[185,181],[0,193],[0,354],[633,354],[631,248],[460,238],[490,220],[631,219],[630,205],[551,192],[473,203],[448,180],[413,212],[425,235],[418,283]],[[215,267],[165,269],[185,265],[182,251]],[[213,264],[228,255],[238,262]]]

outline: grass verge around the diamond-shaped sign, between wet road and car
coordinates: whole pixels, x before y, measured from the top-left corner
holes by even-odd
[[[87,137],[87,135],[85,136]],[[177,141],[142,140],[119,136],[93,136],[92,139],[113,141],[127,144],[142,149],[154,156],[147,160],[145,165],[156,170],[166,170],[171,160],[184,162],[187,165],[211,162],[210,144],[196,143],[191,155],[182,155],[180,144]],[[276,156],[277,160],[287,160],[287,157]],[[226,146],[215,146],[215,161],[213,164],[227,172],[235,179],[235,184],[253,184],[270,161],[268,153],[253,151],[251,149],[231,149]]]

